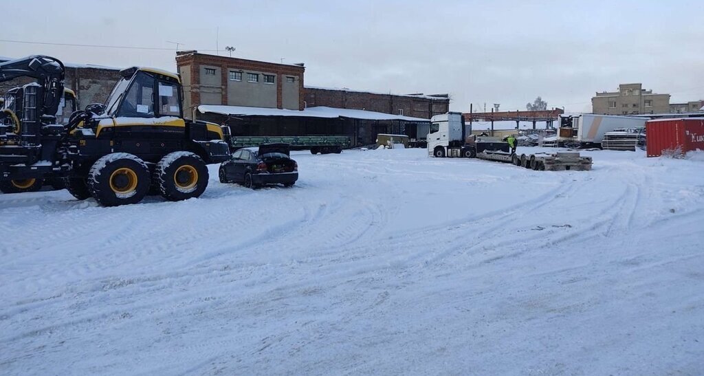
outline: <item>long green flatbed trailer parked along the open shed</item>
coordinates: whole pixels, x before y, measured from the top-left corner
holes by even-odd
[[[327,154],[341,153],[349,149],[351,142],[347,136],[233,136],[230,138],[230,149],[259,146],[261,144],[289,144],[291,150],[310,150],[310,153]]]

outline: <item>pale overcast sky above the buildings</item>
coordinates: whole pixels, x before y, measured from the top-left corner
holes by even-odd
[[[642,82],[704,99],[704,1],[12,1],[0,56],[175,71],[175,44],[306,63],[308,86],[448,93],[452,111],[494,103],[591,111],[595,92]],[[218,32],[219,29],[219,32]],[[217,37],[217,38],[216,38]]]

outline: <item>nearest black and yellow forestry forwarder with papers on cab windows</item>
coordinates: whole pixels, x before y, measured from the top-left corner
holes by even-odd
[[[57,124],[64,66],[49,56],[0,63],[0,82],[33,77],[23,113],[0,113],[0,183],[61,177],[77,199],[104,206],[137,203],[148,192],[177,201],[200,196],[208,163],[230,157],[227,127],[184,119],[178,75],[151,68],[120,71],[106,104],[90,104]],[[14,132],[14,130],[19,130]],[[21,185],[21,184],[20,184]]]

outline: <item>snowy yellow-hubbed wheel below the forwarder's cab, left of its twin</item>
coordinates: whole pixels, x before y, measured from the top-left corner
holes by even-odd
[[[103,206],[138,203],[149,191],[149,168],[130,153],[102,156],[90,168],[88,190]]]

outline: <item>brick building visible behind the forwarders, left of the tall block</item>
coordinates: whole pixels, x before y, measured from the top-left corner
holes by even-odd
[[[0,58],[0,63],[8,60],[11,59]],[[115,82],[118,82],[120,78],[119,68],[72,63],[64,63],[64,66],[64,85],[75,92],[78,97],[78,108],[85,108],[85,106],[92,103],[105,103]],[[4,95],[8,89],[34,81],[31,78],[21,77],[0,82],[0,95]]]

